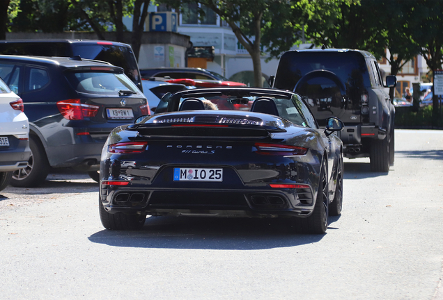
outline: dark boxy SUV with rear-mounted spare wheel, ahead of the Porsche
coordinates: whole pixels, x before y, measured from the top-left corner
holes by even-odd
[[[384,88],[395,87],[396,77],[386,82],[367,51],[306,49],[281,56],[273,87],[301,94],[322,127],[327,118],[339,117],[345,157],[369,157],[371,171],[389,172],[395,108]]]

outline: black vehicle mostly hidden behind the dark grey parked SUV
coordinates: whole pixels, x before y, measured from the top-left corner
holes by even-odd
[[[63,56],[103,60],[123,67],[125,74],[141,91],[139,65],[129,44],[103,40],[0,40],[0,54],[24,56]]]

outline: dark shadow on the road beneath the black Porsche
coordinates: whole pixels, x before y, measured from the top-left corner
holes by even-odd
[[[289,219],[148,217],[141,231],[94,233],[91,242],[114,247],[260,250],[319,242],[325,235],[290,232]]]

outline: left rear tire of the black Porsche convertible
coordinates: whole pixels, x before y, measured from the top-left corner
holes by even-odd
[[[125,215],[123,213],[111,214],[104,210],[103,203],[98,200],[100,220],[106,229],[110,230],[131,230],[136,231],[143,228],[146,215]]]

